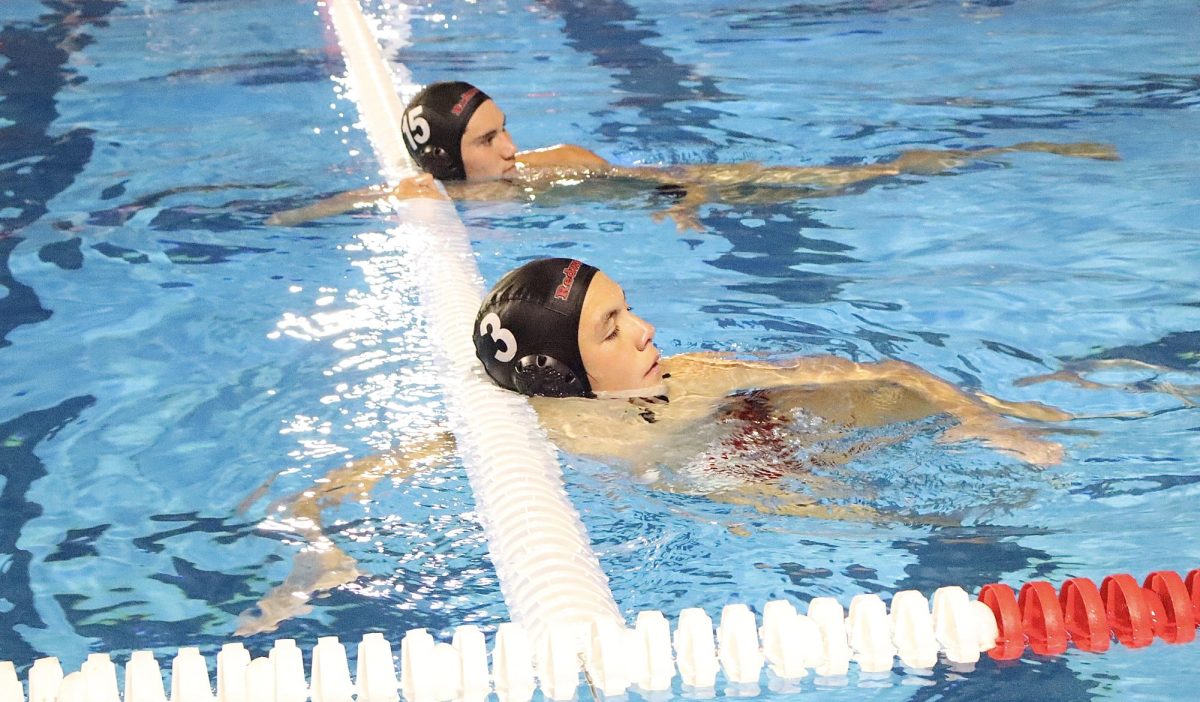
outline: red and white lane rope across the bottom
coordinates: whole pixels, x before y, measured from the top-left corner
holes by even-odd
[[[767,602],[761,617],[746,605],[727,605],[714,626],[701,608],[679,613],[671,631],[660,612],[642,612],[634,626],[608,617],[590,624],[583,653],[571,625],[552,628],[548,646],[534,647],[524,629],[503,624],[487,642],[475,626],[454,630],[438,642],[424,629],[408,631],[396,648],[382,634],[358,644],[352,678],[346,647],[336,637],[312,649],[306,677],[300,648],[280,640],[269,655],[252,659],[241,643],[216,656],[216,690],[209,665],[194,648],[170,661],[170,685],[158,661],[137,652],[125,666],[124,702],[479,702],[496,692],[505,702],[571,700],[581,685],[604,696],[726,689],[752,695],[766,683],[786,690],[810,673],[823,685],[847,683],[852,665],[859,679],[886,676],[896,666],[931,671],[946,665],[970,671],[982,654],[997,660],[1056,655],[1074,647],[1102,653],[1115,640],[1130,648],[1156,638],[1180,644],[1195,640],[1200,622],[1200,569],[1187,576],[1159,570],[1138,584],[1127,574],[1099,587],[1070,578],[1055,588],[1044,581],[1014,590],[991,583],[972,600],[965,589],[937,589],[931,600],[917,590],[896,593],[886,606],[875,594],[850,601],[816,598],[805,613],[784,600]],[[0,664],[4,702],[121,702],[118,671],[107,654],[92,654],[64,676],[56,659],[34,664],[29,696],[12,664]]]

